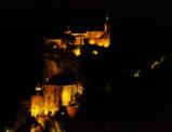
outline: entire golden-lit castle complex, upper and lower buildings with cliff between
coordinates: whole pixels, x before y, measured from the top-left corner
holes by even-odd
[[[54,116],[62,106],[66,107],[70,117],[76,114],[76,98],[83,93],[82,84],[78,79],[78,57],[82,54],[84,45],[100,48],[110,45],[108,16],[106,16],[104,30],[74,34],[68,29],[59,39],[44,38],[43,40],[45,49],[43,81],[42,87],[36,88],[37,94],[31,96],[30,107],[31,116],[42,126],[45,117]],[[93,49],[92,54],[97,55],[98,51]],[[64,76],[65,71],[75,76]]]

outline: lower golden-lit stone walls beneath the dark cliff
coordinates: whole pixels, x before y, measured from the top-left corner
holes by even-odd
[[[42,91],[37,91],[36,95],[31,96],[31,116],[48,116],[55,115],[59,109],[59,101],[62,106],[68,106],[71,98],[80,94],[80,88],[76,84],[71,85],[44,85]]]

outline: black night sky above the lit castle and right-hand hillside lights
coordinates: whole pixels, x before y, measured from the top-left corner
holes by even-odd
[[[92,67],[90,71],[101,65],[95,74],[110,72],[111,78],[117,78],[114,76],[120,72],[116,68],[121,68],[123,62],[130,62],[131,67],[146,65],[156,56],[171,52],[170,0],[8,0],[1,3],[1,115],[12,115],[16,102],[32,93],[41,67],[44,35],[57,35],[68,24],[74,29],[103,26],[107,12],[111,48],[103,57],[106,64],[102,61],[93,63],[93,67],[87,64]],[[107,72],[104,67],[109,68]]]

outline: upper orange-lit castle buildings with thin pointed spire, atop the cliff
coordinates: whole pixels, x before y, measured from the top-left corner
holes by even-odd
[[[72,32],[71,30],[64,31],[64,36],[67,35],[68,38],[61,39],[49,39],[44,38],[44,43],[47,45],[53,44],[53,49],[66,50],[68,45],[75,45],[72,53],[76,56],[81,55],[81,48],[84,44],[97,45],[102,48],[108,48],[110,45],[110,26],[108,25],[108,17],[104,24],[104,30],[87,30],[82,34]],[[70,38],[70,39],[69,39]],[[72,38],[72,39],[71,39]]]

